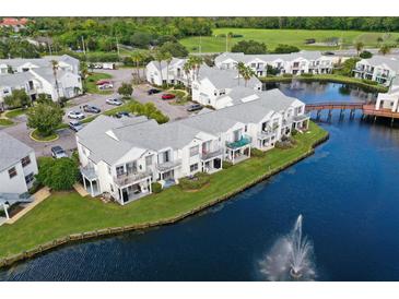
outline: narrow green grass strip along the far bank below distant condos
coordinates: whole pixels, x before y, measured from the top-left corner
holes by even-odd
[[[293,77],[263,76],[260,80],[262,82],[290,82],[290,81],[292,81],[292,79],[301,80],[301,81],[325,81],[325,82],[347,83],[347,84],[353,84],[353,85],[360,86],[369,92],[378,92],[378,93],[388,92],[388,88],[384,85],[380,85],[380,84],[372,85],[357,77],[351,77],[351,76],[344,76],[344,75],[338,75],[338,74],[318,74],[318,75],[313,75],[313,76],[298,75],[298,76],[293,76]]]

